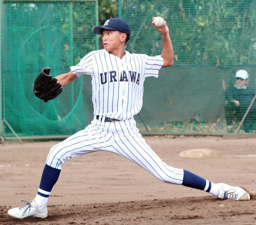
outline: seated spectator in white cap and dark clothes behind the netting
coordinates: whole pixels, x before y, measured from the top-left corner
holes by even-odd
[[[231,125],[233,119],[241,121],[246,110],[255,96],[255,90],[247,87],[249,76],[246,70],[238,70],[235,73],[235,86],[229,87],[225,93],[225,115],[227,125]],[[253,132],[256,123],[256,102],[252,104],[250,111],[243,121],[242,128],[245,132]]]

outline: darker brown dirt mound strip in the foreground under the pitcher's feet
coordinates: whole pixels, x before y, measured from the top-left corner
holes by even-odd
[[[48,217],[9,217],[7,207],[0,207],[1,224],[254,224],[256,195],[251,200],[237,202],[216,197],[186,197],[150,201],[132,201],[87,205],[51,205]],[[254,205],[254,207],[252,207]]]

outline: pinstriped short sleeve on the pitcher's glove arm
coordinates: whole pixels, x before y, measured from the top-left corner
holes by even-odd
[[[85,55],[76,66],[71,66],[70,70],[76,74],[77,77],[82,74],[92,75],[93,69],[93,55],[96,51],[90,52]]]

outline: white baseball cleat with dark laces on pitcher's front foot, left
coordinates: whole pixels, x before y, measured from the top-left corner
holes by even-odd
[[[35,203],[35,200],[30,204],[27,201],[21,200],[21,202],[26,203],[26,206],[23,207],[17,207],[13,209],[8,210],[8,215],[23,219],[26,217],[40,217],[40,218],[46,218],[47,217],[47,206],[45,206],[42,210],[37,209],[37,204]]]

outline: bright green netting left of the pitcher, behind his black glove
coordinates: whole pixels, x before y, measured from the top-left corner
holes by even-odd
[[[20,136],[65,135],[83,129],[92,111],[87,99],[91,101],[91,95],[82,88],[89,78],[75,80],[48,103],[34,96],[32,84],[43,67],[50,67],[55,77],[95,50],[96,1],[6,1],[3,7],[5,120]]]

